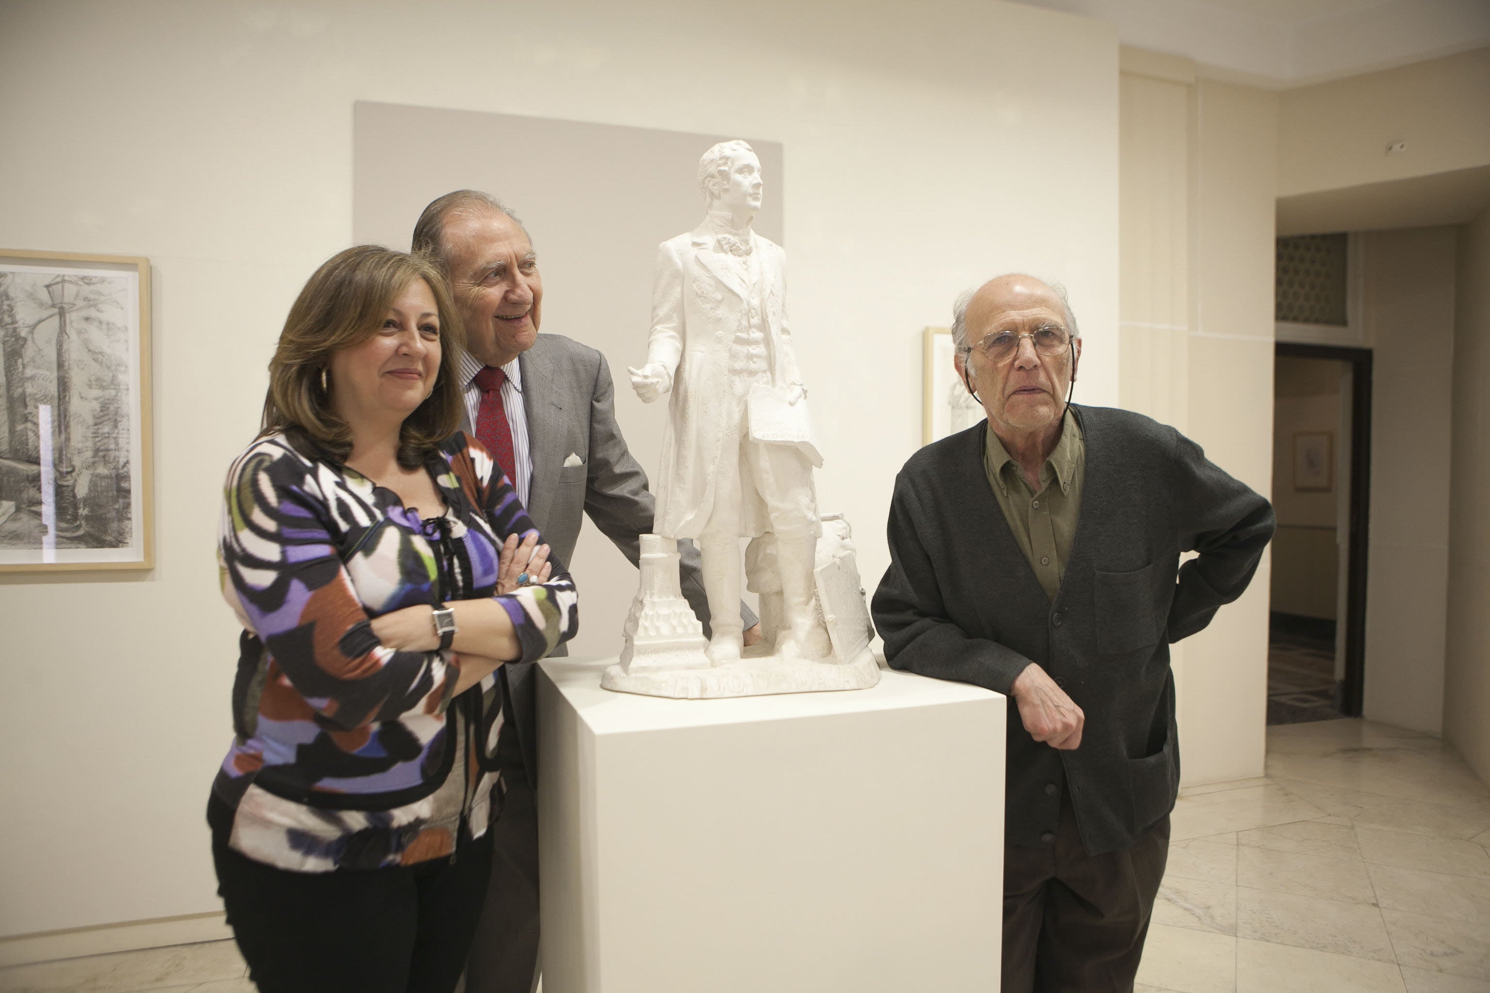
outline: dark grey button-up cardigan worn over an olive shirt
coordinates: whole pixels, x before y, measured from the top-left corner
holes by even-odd
[[[873,615],[885,658],[1009,692],[1036,661],[1086,713],[1074,750],[1037,743],[1009,701],[1004,837],[1040,846],[1070,791],[1091,855],[1132,846],[1174,808],[1180,756],[1170,643],[1247,588],[1272,508],[1173,427],[1076,406],[1080,517],[1052,603],[983,472],[988,423],[927,445],[895,478],[890,569]],[[1180,567],[1180,554],[1199,555]]]

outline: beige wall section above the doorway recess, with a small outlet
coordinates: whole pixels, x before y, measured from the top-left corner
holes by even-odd
[[[1287,89],[1278,197],[1490,164],[1490,48]],[[1392,141],[1407,141],[1387,155]]]

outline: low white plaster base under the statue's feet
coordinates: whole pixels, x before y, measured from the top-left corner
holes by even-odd
[[[751,646],[745,649],[742,660],[724,665],[670,670],[633,667],[629,673],[621,665],[611,665],[600,677],[605,689],[679,700],[869,689],[878,682],[879,664],[869,648],[861,649],[851,661],[840,662],[836,658],[782,658]]]

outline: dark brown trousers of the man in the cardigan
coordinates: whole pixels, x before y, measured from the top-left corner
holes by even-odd
[[[1170,855],[1170,819],[1091,856],[1061,796],[1055,841],[1004,846],[1003,993],[1132,993]]]

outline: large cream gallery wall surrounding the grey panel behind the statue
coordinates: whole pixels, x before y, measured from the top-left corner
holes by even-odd
[[[1116,402],[1113,28],[982,0],[873,16],[764,0],[749,58],[715,55],[738,13],[0,4],[0,244],[153,264],[159,524],[149,575],[0,582],[0,935],[218,908],[203,808],[235,657],[219,488],[289,302],[352,237],[355,100],[781,141],[793,329],[824,397],[820,493],[854,521],[870,588],[921,439],[919,332],[958,290],[1058,274],[1088,342],[1079,396]],[[420,135],[387,153],[417,168]]]

